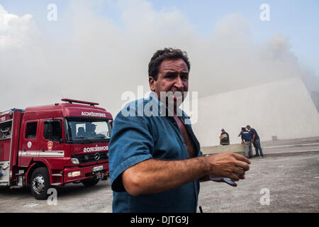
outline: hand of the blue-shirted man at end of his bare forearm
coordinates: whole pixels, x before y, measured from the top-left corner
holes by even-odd
[[[207,157],[211,170],[209,175],[227,177],[233,181],[245,179],[245,171],[250,170],[250,160],[235,153],[221,153]],[[238,176],[237,176],[237,175]]]

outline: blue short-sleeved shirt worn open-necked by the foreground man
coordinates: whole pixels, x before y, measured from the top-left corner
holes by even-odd
[[[150,111],[147,111],[150,110]],[[145,111],[144,111],[145,110]],[[161,116],[168,109],[150,94],[127,104],[113,123],[109,145],[111,188],[113,189],[113,212],[192,212],[196,213],[199,181],[181,185],[157,194],[131,196],[123,187],[121,174],[144,160],[184,160],[189,158],[181,131],[174,116]],[[143,113],[144,112],[144,113]],[[129,114],[128,114],[129,113]],[[129,115],[129,116],[128,116]],[[179,109],[181,121],[189,121]],[[185,124],[201,156],[200,145],[190,124]]]

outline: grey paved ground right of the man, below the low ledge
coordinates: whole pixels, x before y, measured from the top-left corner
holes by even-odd
[[[251,161],[246,179],[237,187],[201,184],[198,206],[204,213],[319,211],[319,152],[265,155]]]

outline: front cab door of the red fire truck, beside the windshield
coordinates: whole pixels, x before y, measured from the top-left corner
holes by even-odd
[[[41,122],[40,157],[64,157],[62,118],[43,119]]]

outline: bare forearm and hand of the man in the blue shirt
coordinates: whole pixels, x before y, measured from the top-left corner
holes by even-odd
[[[195,179],[209,180],[209,175],[239,181],[245,179],[248,164],[250,160],[233,153],[186,160],[149,159],[129,167],[121,177],[125,190],[138,196],[165,192]]]

